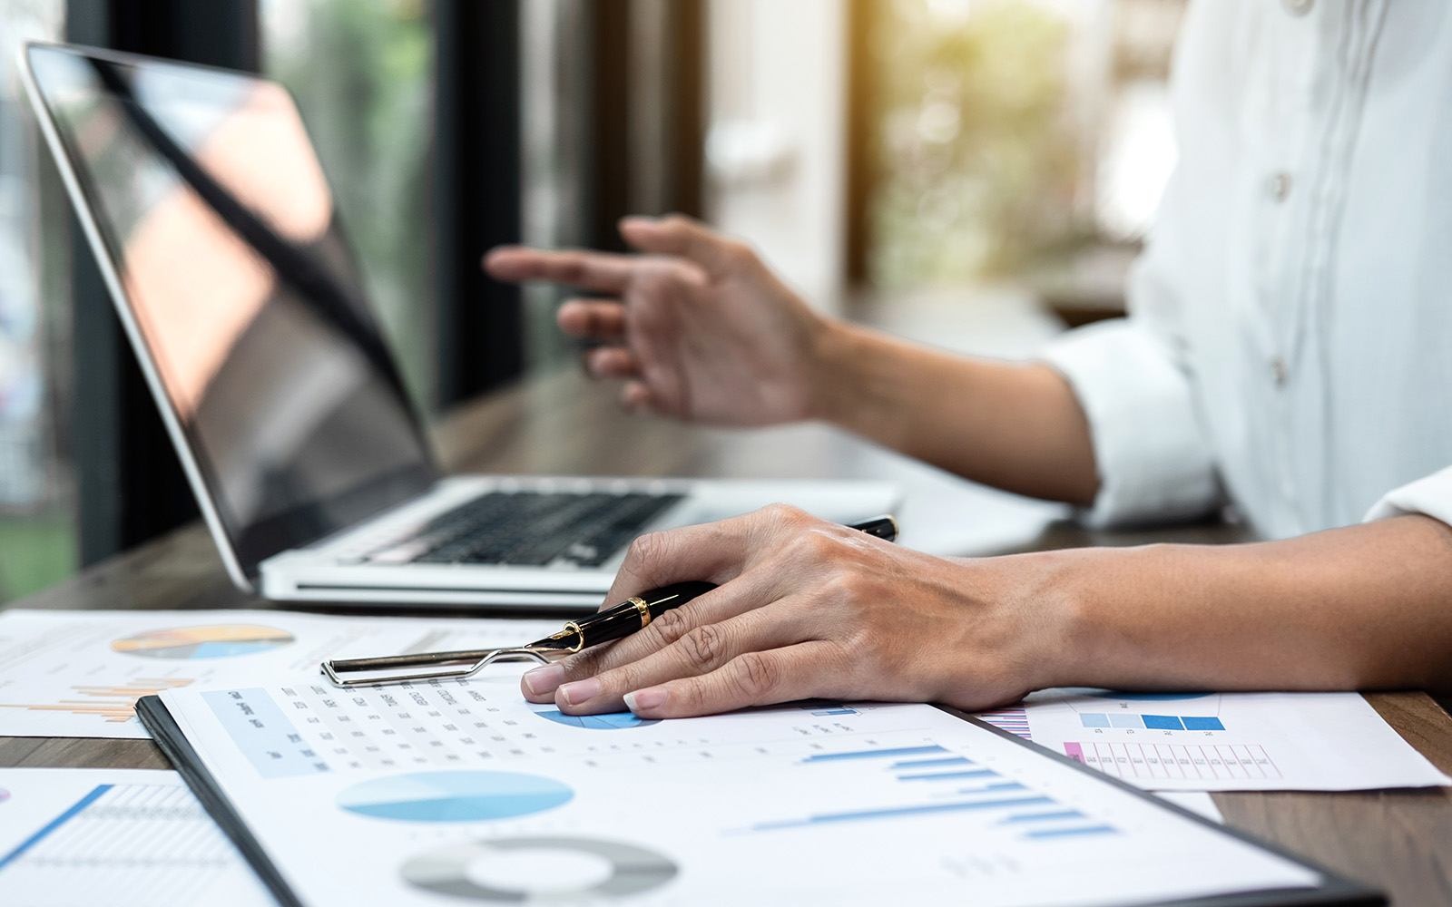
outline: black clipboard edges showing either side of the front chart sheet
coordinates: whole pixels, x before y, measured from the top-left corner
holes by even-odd
[[[1135,904],[1156,904],[1162,907],[1310,907],[1310,906],[1334,906],[1334,907],[1378,907],[1388,904],[1385,894],[1347,879],[1326,866],[1307,861],[1297,856],[1282,848],[1268,845],[1256,837],[1239,832],[1236,829],[1228,829],[1220,826],[1208,818],[1196,816],[1189,810],[1180,808],[1172,803],[1163,801],[1153,794],[1141,791],[1131,784],[1127,784],[1118,778],[1112,778],[1098,772],[1080,762],[1061,756],[1059,753],[1050,752],[1034,743],[1029,743],[1015,734],[1011,734],[1002,729],[993,727],[974,718],[966,713],[945,705],[935,705],[938,710],[954,715],[963,721],[967,721],[976,727],[980,727],[998,737],[1002,737],[1016,746],[1022,746],[1031,750],[1040,759],[1056,760],[1060,765],[1076,771],[1085,772],[1095,778],[1101,784],[1106,784],[1118,788],[1119,791],[1130,794],[1133,797],[1153,803],[1157,808],[1169,810],[1176,813],[1194,823],[1212,829],[1218,834],[1227,834],[1230,837],[1246,842],[1260,850],[1266,850],[1276,856],[1281,856],[1298,866],[1311,869],[1321,877],[1321,884],[1316,888],[1292,888],[1292,890],[1272,890],[1272,891],[1243,891],[1237,894],[1214,895],[1214,897],[1198,897],[1198,898],[1180,898],[1170,901],[1140,901]],[[182,727],[171,717],[171,713],[161,702],[160,697],[142,697],[136,702],[136,717],[141,723],[151,731],[152,739],[161,752],[167,755],[177,772],[186,781],[192,792],[196,794],[197,801],[202,807],[212,816],[216,824],[227,833],[237,849],[242,853],[247,862],[257,872],[257,877],[269,888],[273,897],[282,907],[308,907],[298,894],[287,885],[282,872],[267,856],[266,849],[261,842],[253,834],[251,829],[242,821],[237,808],[228,800],[222,787],[216,782],[211,771],[203,763],[202,758],[193,749],[192,743],[187,740]],[[465,901],[460,901],[460,907]],[[623,904],[629,903],[621,901]]]

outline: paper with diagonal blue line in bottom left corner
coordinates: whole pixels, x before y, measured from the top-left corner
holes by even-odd
[[[6,907],[276,907],[176,772],[0,769]]]

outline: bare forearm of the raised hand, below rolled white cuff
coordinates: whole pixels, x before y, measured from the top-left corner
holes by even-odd
[[[816,360],[816,418],[974,482],[1093,501],[1089,425],[1053,369],[960,358],[848,325],[822,332]]]

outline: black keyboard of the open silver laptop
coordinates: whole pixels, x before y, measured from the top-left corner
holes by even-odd
[[[380,563],[598,567],[682,495],[491,492],[367,557]]]

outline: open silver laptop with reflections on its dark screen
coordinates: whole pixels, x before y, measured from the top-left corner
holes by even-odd
[[[597,607],[640,533],[777,501],[842,522],[896,504],[878,482],[446,476],[282,86],[54,44],[25,45],[22,71],[245,591]]]

